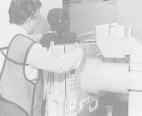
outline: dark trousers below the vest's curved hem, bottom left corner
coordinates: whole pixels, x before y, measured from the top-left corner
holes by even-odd
[[[0,100],[0,116],[27,116],[16,106]]]

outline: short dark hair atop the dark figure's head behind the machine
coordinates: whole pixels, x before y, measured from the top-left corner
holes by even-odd
[[[47,20],[48,20],[49,24],[50,24],[50,18],[51,17],[59,18],[60,13],[63,13],[64,15],[67,16],[67,12],[62,8],[50,9],[49,12],[48,12],[48,15],[47,15]]]

